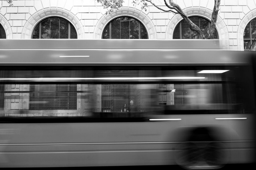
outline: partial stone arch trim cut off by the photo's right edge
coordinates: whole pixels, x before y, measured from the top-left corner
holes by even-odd
[[[243,33],[246,25],[252,20],[256,18],[256,9],[248,12],[243,19],[241,20],[239,26],[238,26],[238,32],[237,32],[237,41],[238,41],[238,50],[243,51]]]

